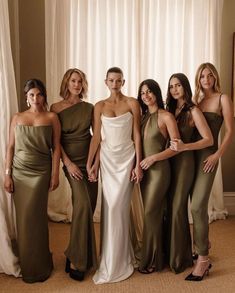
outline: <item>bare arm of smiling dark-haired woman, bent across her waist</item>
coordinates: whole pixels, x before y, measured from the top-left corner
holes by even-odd
[[[164,118],[164,123],[166,125],[166,130],[167,130],[167,133],[169,134],[170,139],[171,140],[179,139],[180,138],[179,130],[178,130],[177,123],[174,116],[170,113],[167,113],[167,115],[165,115],[165,118]],[[146,157],[143,161],[141,161],[140,165],[142,169],[147,170],[152,164],[156,163],[157,161],[166,160],[168,158],[175,156],[176,154],[177,154],[176,151],[168,147],[167,149],[165,149],[164,151],[160,153]]]

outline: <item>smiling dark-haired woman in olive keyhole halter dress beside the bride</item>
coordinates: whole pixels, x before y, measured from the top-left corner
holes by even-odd
[[[142,109],[141,137],[144,177],[140,189],[144,205],[143,243],[139,272],[148,274],[164,268],[163,212],[170,184],[167,160],[176,154],[166,148],[169,139],[179,139],[174,116],[164,109],[161,89],[153,79],[141,82],[138,101]]]

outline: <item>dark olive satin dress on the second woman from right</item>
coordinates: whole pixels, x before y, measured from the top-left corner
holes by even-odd
[[[178,123],[184,143],[193,141],[195,127]],[[194,179],[194,153],[185,151],[170,159],[171,184],[168,194],[169,266],[175,273],[191,267],[192,242],[188,221],[188,198]]]

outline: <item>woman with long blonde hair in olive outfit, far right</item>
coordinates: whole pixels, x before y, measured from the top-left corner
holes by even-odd
[[[191,193],[191,211],[193,239],[198,259],[192,273],[186,277],[188,281],[201,281],[211,268],[208,258],[208,201],[218,161],[230,144],[233,134],[232,101],[221,92],[219,74],[213,64],[203,63],[199,66],[195,85],[194,103],[201,109],[207,120],[214,144],[195,152],[196,173]],[[218,135],[223,121],[225,133],[218,146]],[[199,138],[198,135],[196,139]]]

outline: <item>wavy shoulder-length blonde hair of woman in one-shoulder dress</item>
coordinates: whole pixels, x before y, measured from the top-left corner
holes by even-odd
[[[61,85],[60,85],[60,96],[63,99],[67,99],[69,96],[69,89],[68,89],[68,83],[71,75],[76,72],[82,79],[82,90],[79,94],[80,99],[84,99],[87,97],[87,91],[88,91],[88,82],[86,78],[86,74],[77,68],[70,68],[68,69],[62,79]]]

